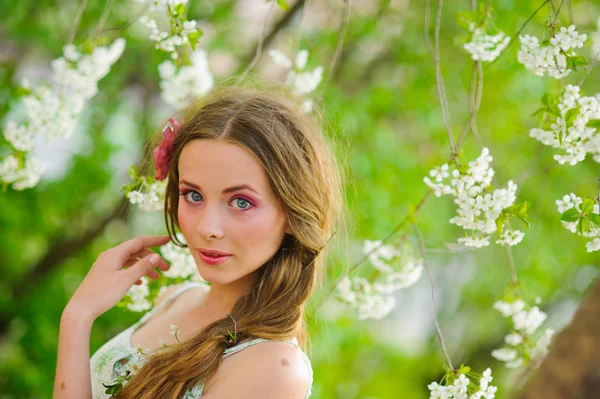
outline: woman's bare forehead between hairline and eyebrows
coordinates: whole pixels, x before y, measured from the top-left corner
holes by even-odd
[[[179,156],[179,178],[214,187],[248,184],[267,190],[267,174],[250,150],[213,139],[196,139],[187,143]]]

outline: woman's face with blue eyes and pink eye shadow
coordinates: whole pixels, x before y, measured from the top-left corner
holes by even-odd
[[[192,140],[179,163],[179,227],[203,279],[251,285],[277,252],[287,229],[285,214],[258,158],[235,144]],[[200,250],[230,254],[220,264]]]

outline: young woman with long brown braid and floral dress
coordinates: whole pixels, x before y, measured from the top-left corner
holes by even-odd
[[[133,238],[92,265],[61,318],[54,398],[111,397],[106,385],[127,369],[113,397],[310,396],[304,310],[341,215],[332,151],[270,94],[225,89],[182,116],[155,152],[169,236]],[[170,288],[90,363],[93,321],[142,276],[168,269],[150,247],[169,238],[189,247],[209,285]]]

